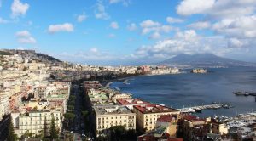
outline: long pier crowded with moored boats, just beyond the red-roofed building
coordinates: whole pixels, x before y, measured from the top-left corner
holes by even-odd
[[[180,110],[182,113],[194,113],[194,112],[201,112],[202,110],[206,110],[206,109],[217,110],[220,108],[229,109],[229,108],[231,108],[231,106],[230,106],[230,104],[205,104],[205,105],[200,105],[200,106],[181,108],[181,109],[177,109],[177,110]]]

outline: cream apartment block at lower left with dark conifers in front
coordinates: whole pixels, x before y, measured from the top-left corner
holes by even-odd
[[[59,110],[30,110],[25,113],[15,111],[11,113],[15,134],[20,138],[25,133],[33,135],[49,135],[52,118],[55,118],[55,126],[61,131],[61,111]]]

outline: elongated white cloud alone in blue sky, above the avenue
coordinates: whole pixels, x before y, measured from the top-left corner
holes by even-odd
[[[60,31],[67,31],[71,32],[73,31],[73,25],[70,23],[60,24],[60,25],[49,25],[48,32],[49,33],[55,33]]]

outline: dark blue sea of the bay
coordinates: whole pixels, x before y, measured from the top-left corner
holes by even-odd
[[[121,92],[131,93],[154,104],[165,104],[172,108],[183,108],[202,104],[227,103],[233,108],[203,110],[196,116],[237,116],[256,111],[256,98],[236,96],[232,92],[256,92],[256,68],[213,68],[206,74],[184,71],[181,74],[157,76],[135,76],[123,81],[113,82],[110,87]]]

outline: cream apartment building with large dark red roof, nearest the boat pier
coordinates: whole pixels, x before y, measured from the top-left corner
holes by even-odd
[[[146,132],[154,129],[157,119],[162,115],[179,115],[180,111],[160,104],[136,105],[133,111],[137,115],[137,127]]]

